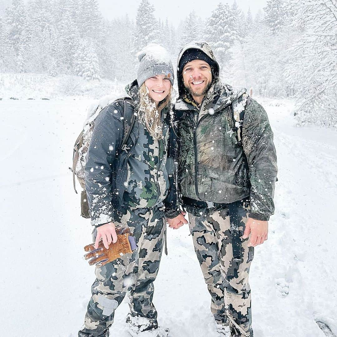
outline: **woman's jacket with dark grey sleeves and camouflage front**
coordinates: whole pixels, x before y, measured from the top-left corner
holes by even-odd
[[[133,104],[139,102],[138,85],[127,88]],[[154,140],[136,118],[126,146],[123,138],[123,104],[114,101],[95,120],[85,166],[85,187],[92,225],[119,221],[125,208],[150,208],[161,204],[167,196],[170,180],[166,168],[169,139],[168,110],[162,111],[162,140]],[[172,181],[171,181],[172,183]],[[175,191],[175,189],[171,189]]]

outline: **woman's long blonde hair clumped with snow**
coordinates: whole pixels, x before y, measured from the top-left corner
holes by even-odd
[[[171,106],[172,86],[168,95],[159,102],[158,108],[156,103],[149,95],[149,90],[145,83],[139,89],[139,109],[138,118],[147,128],[153,139],[159,141],[163,139],[163,118],[161,111],[167,106]]]

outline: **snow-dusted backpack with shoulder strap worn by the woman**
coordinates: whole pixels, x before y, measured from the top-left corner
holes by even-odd
[[[131,97],[122,97],[115,100],[117,104],[123,104],[123,140],[120,149],[124,149],[126,147],[127,140],[131,134],[133,125],[136,120],[136,116],[133,113],[133,109],[128,109],[132,105],[132,98]],[[112,104],[112,103],[111,103]],[[129,106],[128,106],[129,104]],[[109,105],[109,104],[108,104]],[[108,106],[106,105],[106,106]],[[91,120],[84,126],[83,130],[79,134],[76,139],[74,148],[73,148],[73,156],[72,156],[72,168],[69,167],[70,171],[72,172],[72,180],[74,190],[76,191],[76,184],[75,184],[75,176],[79,181],[82,192],[81,192],[81,216],[84,218],[90,218],[90,210],[88,205],[87,199],[87,192],[85,190],[85,164],[86,164],[86,155],[88,152],[90,140],[92,137],[92,133],[95,126],[95,119],[99,115],[99,113],[106,108],[106,106],[98,105],[95,109],[94,113],[91,115]]]

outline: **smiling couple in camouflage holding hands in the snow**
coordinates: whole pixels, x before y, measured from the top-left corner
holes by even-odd
[[[168,336],[158,327],[153,281],[171,228],[187,223],[219,336],[253,336],[248,275],[254,247],[268,237],[277,166],[265,110],[245,89],[223,85],[207,43],[179,53],[179,97],[167,53],[139,53],[137,79],[95,120],[85,185],[95,247],[130,228],[137,249],[96,267],[79,337],[107,337],[126,294],[132,336]],[[125,105],[125,106],[124,106]],[[126,109],[125,109],[126,107]],[[123,143],[124,113],[136,115]]]

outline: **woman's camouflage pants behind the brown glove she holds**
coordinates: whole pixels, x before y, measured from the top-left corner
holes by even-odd
[[[123,215],[121,223],[116,223],[130,227],[138,248],[132,254],[125,254],[105,266],[96,267],[97,278],[91,287],[92,297],[79,337],[103,335],[112,325],[115,309],[126,293],[133,316],[157,320],[152,298],[153,281],[158,273],[166,228],[163,218],[163,207],[132,208]],[[95,239],[96,230],[93,237]]]

